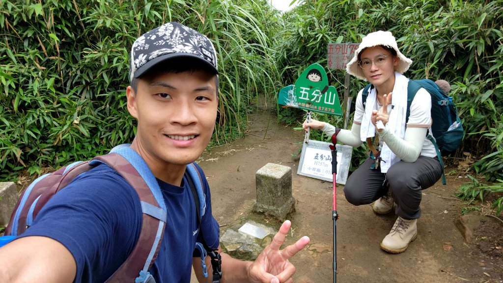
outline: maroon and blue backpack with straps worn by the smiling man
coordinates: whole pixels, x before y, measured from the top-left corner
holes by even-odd
[[[118,146],[112,149],[110,154],[98,156],[86,162],[74,162],[53,173],[37,178],[21,194],[6,228],[5,235],[21,235],[32,225],[33,220],[44,204],[55,193],[67,186],[79,174],[101,163],[115,169],[131,184],[140,197],[143,212],[141,232],[133,251],[107,282],[154,283],[155,280],[149,274],[148,269],[150,269],[157,257],[164,235],[167,208],[152,172],[141,156],[130,149],[129,145]],[[193,163],[187,165],[186,174],[196,203],[198,224],[200,224],[206,210],[202,178]],[[215,278],[219,279],[219,276],[221,277],[220,255],[208,247],[202,234],[201,239],[202,243],[197,243],[196,248],[201,255],[203,274],[207,277],[204,257],[209,254],[212,257],[213,281],[215,281]]]

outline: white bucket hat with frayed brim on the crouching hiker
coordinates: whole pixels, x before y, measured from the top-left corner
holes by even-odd
[[[395,37],[391,34],[391,32],[376,31],[367,34],[367,36],[362,39],[362,43],[360,43],[358,49],[356,49],[355,51],[355,56],[353,56],[353,59],[351,59],[351,61],[346,65],[346,72],[348,72],[348,74],[352,76],[357,77],[358,79],[367,81],[367,79],[365,79],[365,76],[363,75],[363,69],[358,65],[358,54],[360,54],[360,52],[362,52],[362,50],[365,48],[378,45],[385,45],[395,49],[396,55],[398,56],[398,59],[400,59],[395,69],[396,72],[403,74],[406,70],[408,70],[410,64],[412,63],[412,60],[405,57],[405,55],[403,55],[400,50],[398,50],[398,45],[396,44]]]

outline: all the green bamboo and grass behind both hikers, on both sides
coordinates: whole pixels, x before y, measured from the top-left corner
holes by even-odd
[[[218,53],[220,104],[212,145],[241,136],[259,100],[275,104],[327,44],[392,31],[413,63],[410,78],[445,79],[465,127],[455,158],[477,160],[465,199],[503,192],[503,0],[301,1],[282,14],[267,0],[0,0],[0,180],[40,174],[130,142],[129,48],[143,32],[178,21]],[[343,70],[328,70],[344,93]],[[350,95],[364,86],[352,80]],[[342,101],[342,97],[340,98]],[[278,108],[298,125],[304,112]],[[318,116],[339,127],[342,118]],[[350,123],[351,124],[351,123]],[[326,138],[318,136],[319,138]],[[365,148],[354,152],[360,162]],[[358,165],[358,164],[355,164]],[[503,209],[503,198],[494,205]]]

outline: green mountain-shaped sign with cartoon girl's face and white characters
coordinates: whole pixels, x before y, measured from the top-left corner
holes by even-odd
[[[278,103],[308,111],[343,115],[336,88],[328,85],[325,69],[316,63],[302,72],[295,85],[280,90]]]

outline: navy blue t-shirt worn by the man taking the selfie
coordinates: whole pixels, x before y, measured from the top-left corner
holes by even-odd
[[[219,226],[211,214],[209,186],[199,166],[198,170],[206,194],[201,229],[186,177],[183,187],[157,180],[167,207],[164,238],[149,270],[157,283],[190,282],[193,252],[201,230],[208,246],[218,247]],[[136,191],[108,165],[99,165],[55,194],[21,237],[55,239],[75,259],[75,282],[104,282],[133,250],[141,219]]]

